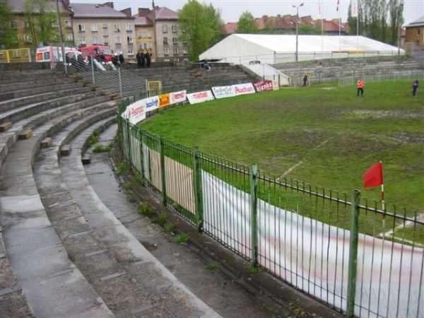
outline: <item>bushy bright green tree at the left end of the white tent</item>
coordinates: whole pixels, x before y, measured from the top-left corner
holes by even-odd
[[[199,55],[211,47],[216,40],[216,26],[220,23],[219,13],[212,6],[199,4],[197,0],[189,0],[178,12],[179,24],[185,30],[189,59],[197,61]],[[222,21],[222,20],[221,20]]]

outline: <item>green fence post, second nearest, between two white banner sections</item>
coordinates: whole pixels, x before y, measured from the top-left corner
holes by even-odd
[[[252,266],[256,266],[258,257],[257,176],[258,167],[253,164],[250,172],[250,248]]]

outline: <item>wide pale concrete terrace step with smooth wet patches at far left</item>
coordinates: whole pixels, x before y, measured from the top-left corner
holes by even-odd
[[[83,120],[93,124],[103,114]],[[8,260],[36,317],[113,317],[69,260],[35,185],[33,160],[42,131],[57,129],[46,125],[37,136],[16,143],[1,170],[1,224]]]

